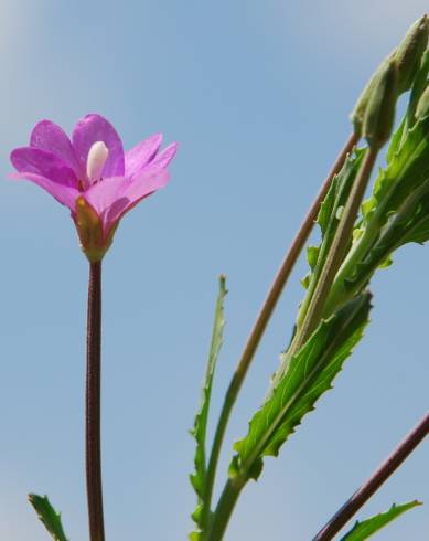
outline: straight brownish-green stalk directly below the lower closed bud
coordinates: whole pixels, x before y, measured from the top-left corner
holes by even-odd
[[[301,349],[302,344],[305,343],[310,335],[320,322],[330,288],[335,278],[335,274],[343,262],[345,250],[352,237],[358,208],[362,203],[377,155],[377,147],[369,147],[368,151],[366,152],[356,180],[352,187],[348,200],[341,215],[339,227],[332,241],[331,248],[328,252],[323,270],[320,275],[318,285],[315,286],[314,294],[309,304],[304,320],[301,328],[297,332],[296,338],[293,339],[291,354]]]

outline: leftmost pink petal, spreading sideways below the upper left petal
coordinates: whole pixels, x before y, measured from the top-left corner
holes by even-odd
[[[73,169],[52,152],[34,147],[15,148],[10,160],[20,173],[39,174],[57,184],[77,189],[77,178]]]

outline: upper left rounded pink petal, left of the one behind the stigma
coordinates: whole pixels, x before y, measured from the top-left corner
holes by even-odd
[[[51,120],[41,120],[34,126],[30,137],[30,147],[40,148],[57,156],[82,178],[82,168],[67,134]]]

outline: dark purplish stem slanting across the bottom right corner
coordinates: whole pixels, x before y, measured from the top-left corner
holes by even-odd
[[[429,434],[429,412],[406,436],[392,455],[379,466],[369,479],[336,511],[332,519],[313,538],[313,541],[330,541],[358,509],[379,489],[390,475],[404,463],[412,450]]]

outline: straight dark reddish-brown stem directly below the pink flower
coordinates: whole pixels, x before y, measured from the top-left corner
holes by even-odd
[[[101,262],[89,263],[86,341],[86,488],[89,539],[104,541],[100,380],[101,380]]]

